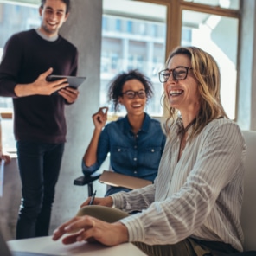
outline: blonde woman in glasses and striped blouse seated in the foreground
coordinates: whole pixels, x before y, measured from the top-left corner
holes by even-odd
[[[221,105],[221,75],[200,48],[176,48],[159,74],[170,118],[154,184],[95,198],[58,227],[64,244],[133,242],[147,255],[226,255],[243,250],[240,210],[246,144]],[[114,208],[112,208],[114,207]],[[117,208],[117,209],[116,209]],[[129,215],[130,211],[142,210]],[[109,216],[115,216],[110,220]]]

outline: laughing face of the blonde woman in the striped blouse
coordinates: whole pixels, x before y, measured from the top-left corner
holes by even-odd
[[[187,77],[183,80],[175,80],[172,70],[176,67],[188,67]],[[200,93],[198,90],[198,81],[191,68],[191,61],[185,54],[177,54],[172,57],[168,63],[170,70],[169,79],[163,84],[164,92],[171,107],[180,112],[198,111],[200,107]]]

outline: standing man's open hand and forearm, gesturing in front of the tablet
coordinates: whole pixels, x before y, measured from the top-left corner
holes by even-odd
[[[52,93],[61,90],[68,86],[67,79],[48,81],[48,75],[52,74],[53,68],[40,74],[38,78],[31,84],[17,84],[14,91],[17,97],[30,95],[51,95]]]

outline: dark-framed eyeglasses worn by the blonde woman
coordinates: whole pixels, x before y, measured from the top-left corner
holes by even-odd
[[[189,69],[192,69],[192,67],[178,66],[172,69],[166,68],[159,72],[159,80],[161,83],[167,82],[167,80],[169,80],[170,74],[172,74],[174,80],[184,80],[188,76]]]

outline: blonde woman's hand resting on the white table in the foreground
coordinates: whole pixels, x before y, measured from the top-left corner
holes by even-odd
[[[72,233],[72,234],[70,234]],[[54,230],[53,240],[59,240],[63,234],[63,244],[76,241],[98,241],[106,246],[116,246],[128,241],[128,230],[121,222],[107,223],[91,216],[74,217]]]

